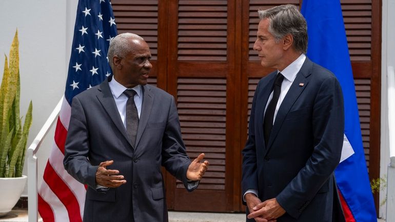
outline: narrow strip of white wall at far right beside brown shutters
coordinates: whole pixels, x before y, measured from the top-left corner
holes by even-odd
[[[395,67],[395,0],[383,0],[382,6],[382,66],[381,66],[381,148],[380,177],[387,178],[389,164],[388,134],[388,97],[387,97],[387,66]],[[392,113],[394,115],[394,113]],[[386,191],[380,193],[380,203],[385,200]],[[380,207],[379,216],[385,218],[386,205]]]

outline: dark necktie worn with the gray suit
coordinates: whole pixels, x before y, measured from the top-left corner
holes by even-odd
[[[134,95],[136,91],[127,89],[124,91],[124,94],[129,97],[126,102],[126,131],[128,132],[132,145],[135,146],[137,127],[139,126],[139,113],[134,104]]]

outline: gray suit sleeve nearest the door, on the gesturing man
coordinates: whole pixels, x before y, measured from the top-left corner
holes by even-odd
[[[162,165],[171,175],[181,180],[188,191],[198,187],[199,183],[187,179],[187,170],[191,163],[181,136],[180,119],[171,96],[169,115],[163,136]]]

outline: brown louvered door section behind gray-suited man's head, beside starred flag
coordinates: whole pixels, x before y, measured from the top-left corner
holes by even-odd
[[[167,30],[159,28],[167,25],[166,2],[112,0],[111,5],[118,34],[131,32],[140,35],[150,47],[152,70],[148,83],[166,89]]]

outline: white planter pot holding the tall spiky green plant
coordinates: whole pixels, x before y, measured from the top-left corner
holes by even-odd
[[[12,210],[25,189],[27,176],[3,178],[0,177],[0,216]]]

